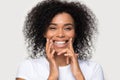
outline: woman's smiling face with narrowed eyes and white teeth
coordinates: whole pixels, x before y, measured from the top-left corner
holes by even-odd
[[[69,45],[69,40],[75,38],[74,20],[68,13],[57,14],[45,33],[45,37],[53,41],[53,48],[60,52]]]

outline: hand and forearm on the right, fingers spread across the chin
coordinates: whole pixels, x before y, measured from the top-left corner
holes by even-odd
[[[66,53],[66,54],[64,54]],[[80,70],[78,63],[78,54],[73,50],[72,39],[69,40],[69,46],[67,49],[62,50],[58,55],[64,54],[66,56],[66,63],[71,65],[71,71],[76,80],[84,80],[84,76]]]

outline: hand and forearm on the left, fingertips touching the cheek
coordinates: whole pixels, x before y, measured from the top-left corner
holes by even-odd
[[[50,65],[50,74],[48,80],[57,80],[58,79],[58,66],[55,62],[54,54],[55,50],[52,48],[53,41],[52,39],[47,39],[46,43],[46,56]]]

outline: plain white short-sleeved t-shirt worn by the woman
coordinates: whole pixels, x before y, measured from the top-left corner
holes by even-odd
[[[78,60],[78,62],[85,80],[104,80],[103,71],[99,64],[92,61]],[[25,80],[47,80],[49,71],[49,63],[42,56],[39,59],[28,59],[22,62],[18,67],[16,77]],[[75,80],[70,65],[59,67],[58,80]]]

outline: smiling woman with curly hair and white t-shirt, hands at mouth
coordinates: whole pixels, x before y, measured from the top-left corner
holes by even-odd
[[[16,80],[104,80],[101,66],[89,61],[96,30],[94,14],[79,2],[38,3],[23,30],[31,59]]]

